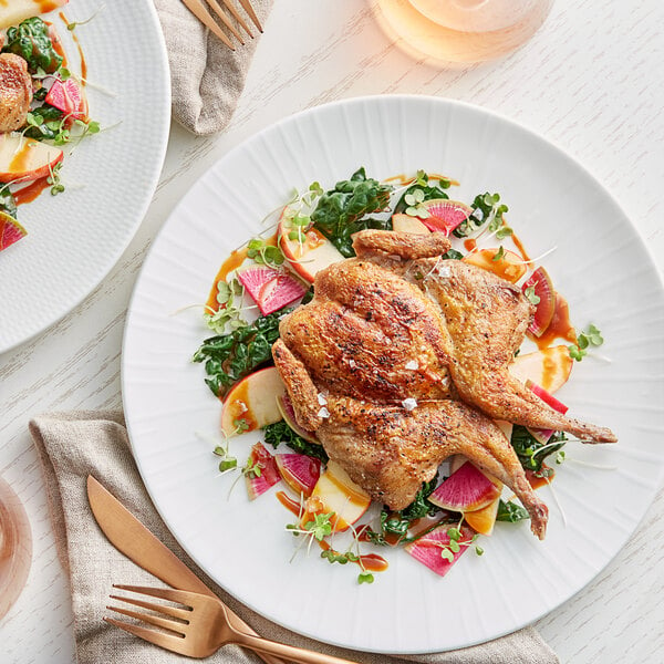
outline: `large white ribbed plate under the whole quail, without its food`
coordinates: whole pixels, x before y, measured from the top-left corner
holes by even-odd
[[[471,201],[499,191],[510,225],[544,259],[578,328],[596,324],[601,357],[578,363],[559,392],[570,414],[610,426],[618,445],[568,445],[547,539],[528,522],[499,523],[438,578],[403,550],[357,585],[352,566],[317,552],[292,563],[292,517],[272,489],[253,502],[220,477],[209,440],[220,405],[190,362],[199,311],[229,251],[261,230],[293,187],[323,187],[359,166],[385,178],[418,168],[461,184]],[[585,585],[623,547],[663,479],[664,298],[634,226],[577,162],[542,137],[480,108],[439,98],[382,96],[312,108],[226,155],[175,209],[131,304],[123,393],[133,450],[160,515],[196,562],[240,601],[321,641],[365,651],[445,651],[527,625]],[[231,442],[240,461],[258,435]],[[604,467],[588,467],[575,460]],[[608,469],[609,468],[609,469]],[[611,469],[613,468],[613,469]]]

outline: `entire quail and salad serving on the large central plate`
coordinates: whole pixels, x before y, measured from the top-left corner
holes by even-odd
[[[277,463],[301,489],[277,494],[297,517],[288,529],[329,562],[360,566],[360,582],[387,566],[361,544],[404,546],[444,575],[468,548],[481,554],[476,540],[498,521],[530,519],[543,538],[547,461],[563,461],[568,434],[616,439],[552,394],[600,331],[571,325],[500,196],[466,205],[449,199],[454,184],[424,172],[380,183],[364,169],[328,191],[313,183],[273,237],[225,261],[206,307],[217,335],[194,357],[224,400],[226,436],[260,427],[266,446],[297,453]],[[216,454],[220,470],[253,479],[270,460],[252,453],[240,467],[228,438]],[[307,473],[293,483],[287,466]]]

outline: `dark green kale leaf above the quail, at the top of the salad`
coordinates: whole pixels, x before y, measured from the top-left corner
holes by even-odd
[[[365,215],[380,212],[390,203],[392,187],[367,178],[360,168],[347,180],[336,183],[325,191],[311,214],[314,228],[320,230],[346,258],[355,256],[351,236],[359,230],[392,229],[390,220],[363,219]]]

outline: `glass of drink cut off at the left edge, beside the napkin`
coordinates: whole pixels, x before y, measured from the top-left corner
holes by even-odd
[[[0,619],[21,594],[32,562],[32,535],[19,497],[0,477]]]

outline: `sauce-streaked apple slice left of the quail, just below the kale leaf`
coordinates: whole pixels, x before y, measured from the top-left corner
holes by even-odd
[[[281,419],[277,400],[284,393],[274,366],[252,373],[230,388],[221,408],[221,430],[227,437],[274,424]]]

